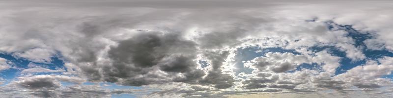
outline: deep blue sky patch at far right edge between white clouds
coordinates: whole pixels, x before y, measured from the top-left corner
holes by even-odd
[[[383,49],[383,50],[367,49],[364,41],[366,39],[371,39],[374,37],[368,31],[359,31],[359,30],[356,30],[355,28],[353,28],[352,25],[338,25],[332,21],[326,22],[326,25],[328,26],[329,30],[331,30],[331,31],[337,31],[337,30],[346,31],[347,32],[346,37],[351,37],[354,40],[355,47],[362,48],[362,52],[365,54],[366,59],[376,60],[376,59],[382,58],[384,56],[390,56],[390,57],[393,56],[393,53],[386,50],[386,49]],[[315,50],[315,51],[327,49],[334,56],[341,57],[342,59],[339,62],[340,66],[336,69],[336,75],[341,74],[341,73],[345,73],[347,70],[350,70],[356,66],[364,65],[366,62],[366,59],[359,60],[359,61],[353,61],[352,59],[347,58],[345,56],[346,53],[344,51],[338,50],[337,48],[335,48],[333,46],[311,47],[309,49]]]

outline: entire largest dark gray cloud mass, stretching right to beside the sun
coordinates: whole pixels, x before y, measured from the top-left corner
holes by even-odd
[[[102,68],[81,67],[91,80],[104,80],[123,85],[141,86],[166,82],[210,85],[225,89],[235,81],[222,73],[228,51],[205,51],[212,70],[197,69],[197,44],[185,40],[179,32],[145,32],[120,41],[108,51],[112,64]],[[105,70],[101,70],[105,69]],[[164,73],[158,73],[163,71]],[[182,76],[178,76],[178,74]],[[162,76],[166,74],[166,76]],[[207,74],[204,78],[204,76]]]

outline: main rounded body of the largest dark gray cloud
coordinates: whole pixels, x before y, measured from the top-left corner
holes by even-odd
[[[141,32],[109,50],[113,63],[112,66],[104,67],[108,70],[104,70],[103,78],[109,82],[117,82],[118,78],[129,79],[132,81],[122,84],[131,86],[167,82],[153,79],[160,78],[157,77],[159,74],[149,74],[158,68],[169,74],[182,73],[185,76],[175,77],[175,81],[195,82],[204,75],[201,70],[196,69],[197,64],[193,62],[197,51],[195,45],[174,33]]]

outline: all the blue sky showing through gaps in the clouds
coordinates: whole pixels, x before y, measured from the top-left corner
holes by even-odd
[[[365,44],[363,43],[366,39],[372,39],[374,38],[371,34],[367,32],[361,32],[358,31],[354,28],[352,28],[351,25],[337,25],[333,22],[327,22],[329,23],[327,25],[330,30],[343,30],[347,32],[347,37],[351,37],[353,40],[355,40],[355,44],[353,44],[356,47],[364,47],[362,49],[362,52],[365,54],[367,59],[363,60],[358,60],[354,61],[351,58],[346,57],[346,52],[343,50],[337,49],[335,46],[313,46],[308,48],[309,51],[313,52],[319,52],[322,50],[328,51],[331,55],[337,56],[340,58],[339,61],[339,66],[336,69],[335,75],[345,73],[346,71],[357,67],[357,66],[363,66],[365,65],[366,60],[376,60],[379,58],[382,58],[384,56],[389,56],[392,57],[393,53],[390,52],[387,49],[382,49],[382,50],[370,50],[366,49]],[[334,28],[334,26],[330,25],[334,24],[336,25],[337,28]],[[273,47],[273,48],[261,48],[259,46],[254,46],[254,47],[246,47],[246,48],[239,48],[236,50],[236,55],[235,55],[235,74],[238,75],[239,73],[248,73],[251,74],[253,69],[244,67],[244,61],[249,61],[252,60],[256,57],[265,57],[265,53],[268,52],[279,52],[279,53],[293,53],[295,55],[301,55],[302,53],[296,51],[295,49],[283,49],[280,47]],[[56,54],[60,55],[60,54]],[[56,69],[66,69],[64,67],[64,62],[63,59],[59,58],[59,56],[53,56],[51,57],[51,62],[49,63],[40,63],[40,62],[34,62],[34,61],[29,61],[28,59],[25,58],[18,58],[14,54],[9,53],[1,53],[0,54],[1,58],[4,58],[10,62],[12,62],[13,68],[6,69],[4,71],[1,71],[1,75],[3,79],[5,79],[4,84],[2,86],[7,85],[7,83],[10,83],[12,80],[16,80],[17,77],[21,76],[21,71],[24,69],[28,69],[29,64],[35,64],[39,65],[41,67],[45,67],[50,70],[56,70]],[[210,64],[208,64],[206,61],[199,61],[201,64],[201,67],[207,67]],[[309,70],[317,70],[320,69],[321,66],[323,66],[323,63],[303,63],[297,66],[295,69],[286,71],[285,73],[294,73],[296,71],[302,71],[303,69],[309,69]],[[34,73],[35,75],[43,75],[43,74],[54,74],[54,73]],[[62,74],[62,73],[55,73],[55,74]],[[384,75],[384,78],[392,78],[393,75]],[[74,83],[70,82],[62,82],[61,83],[63,86],[73,86]],[[103,86],[103,89],[109,89],[109,90],[116,90],[116,89],[142,89],[143,87],[137,87],[137,86],[123,86],[123,85],[118,85],[115,83],[111,82],[99,82],[99,83],[93,83],[93,82],[84,82],[82,85],[101,85]],[[104,86],[105,85],[105,86]],[[135,98],[136,95],[134,94],[112,94],[112,98]]]

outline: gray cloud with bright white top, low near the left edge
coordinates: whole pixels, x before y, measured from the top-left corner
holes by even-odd
[[[31,74],[30,74],[31,75]],[[67,96],[62,94],[60,82],[68,82],[73,84],[82,84],[85,82],[84,79],[74,76],[66,75],[26,75],[18,77],[18,80],[11,81],[9,84],[3,86],[1,90],[5,90],[4,94],[9,95],[10,93],[17,93],[20,95],[32,95],[41,98],[54,98],[58,96]],[[15,90],[9,90],[10,88]],[[73,90],[71,90],[73,91]],[[8,93],[7,93],[8,92]],[[15,96],[12,96],[15,97]],[[26,97],[26,96],[25,96]],[[28,96],[27,96],[28,97]]]

